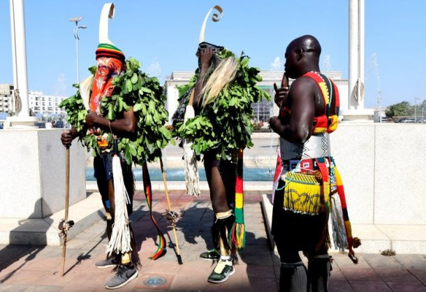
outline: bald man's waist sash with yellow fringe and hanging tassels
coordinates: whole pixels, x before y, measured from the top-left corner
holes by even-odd
[[[348,256],[353,263],[358,263],[353,248],[358,247],[361,242],[352,235],[344,187],[334,159],[320,157],[284,160],[282,165],[284,169],[281,180],[285,182],[284,210],[299,214],[327,214],[323,240],[328,238],[327,221],[331,216],[335,248],[341,251],[349,249]]]

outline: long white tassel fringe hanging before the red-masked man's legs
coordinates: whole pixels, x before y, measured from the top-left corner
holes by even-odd
[[[130,204],[130,199],[124,185],[122,165],[116,155],[112,157],[112,174],[114,175],[115,217],[110,243],[106,251],[109,256],[113,251],[116,254],[122,254],[132,250],[126,207],[126,204]]]

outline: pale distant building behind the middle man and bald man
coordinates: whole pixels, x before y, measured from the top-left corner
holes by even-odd
[[[333,80],[337,88],[339,88],[340,108],[348,108],[348,100],[345,98],[345,96],[348,96],[348,80],[341,79],[341,72],[339,71],[328,71],[323,73]],[[254,122],[268,122],[270,117],[278,115],[279,109],[274,103],[274,83],[277,83],[277,86],[280,87],[283,74],[283,71],[260,71],[262,81],[258,83],[258,86],[271,96],[271,100],[263,100],[251,104],[254,110]],[[172,75],[170,75],[170,78],[166,80],[164,87],[166,88],[166,109],[168,110],[169,122],[171,122],[172,115],[178,105],[177,98],[179,98],[179,91],[177,90],[177,86],[186,85],[192,75],[193,72],[191,71],[174,71]],[[292,81],[293,80],[290,80],[290,84]]]

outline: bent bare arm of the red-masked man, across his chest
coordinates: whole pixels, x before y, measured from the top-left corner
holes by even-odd
[[[131,107],[127,112],[124,112],[122,119],[110,121],[104,117],[96,115],[96,112],[89,112],[86,115],[86,124],[89,128],[99,126],[105,130],[111,130],[112,133],[134,133],[136,130],[136,117]]]

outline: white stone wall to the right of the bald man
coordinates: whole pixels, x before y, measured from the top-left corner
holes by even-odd
[[[342,123],[331,139],[351,221],[426,224],[425,124]]]

